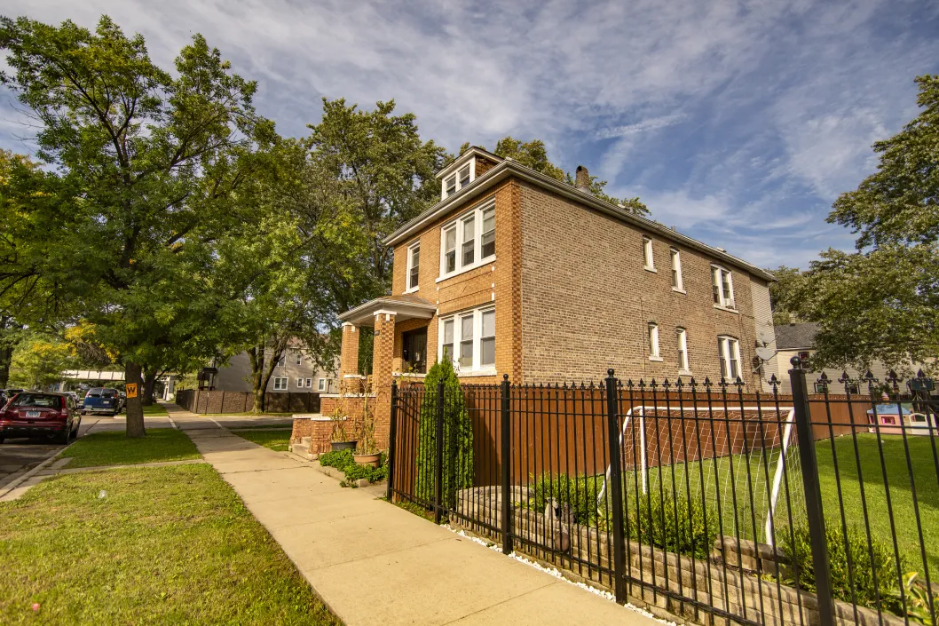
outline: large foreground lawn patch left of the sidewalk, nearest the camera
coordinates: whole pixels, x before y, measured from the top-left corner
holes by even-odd
[[[0,562],[5,624],[340,623],[208,465],[42,482],[0,503]]]

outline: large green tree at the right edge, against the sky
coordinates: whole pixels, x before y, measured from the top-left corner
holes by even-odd
[[[939,76],[916,84],[921,112],[874,144],[877,172],[828,216],[853,230],[856,251],[824,251],[797,283],[793,306],[821,322],[820,365],[908,373],[939,356]]]

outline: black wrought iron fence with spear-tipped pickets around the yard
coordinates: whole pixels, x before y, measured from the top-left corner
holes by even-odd
[[[388,495],[663,615],[939,623],[931,382],[809,395],[793,365],[792,396],[612,371],[394,387]]]

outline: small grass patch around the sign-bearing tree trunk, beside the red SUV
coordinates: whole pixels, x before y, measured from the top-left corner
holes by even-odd
[[[199,451],[181,430],[147,429],[140,439],[128,439],[123,431],[93,432],[59,456],[71,457],[71,468],[184,461],[198,459]]]

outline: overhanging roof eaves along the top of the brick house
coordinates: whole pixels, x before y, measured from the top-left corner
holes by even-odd
[[[485,152],[485,150],[483,151]],[[464,152],[464,155],[465,154],[466,152]],[[500,158],[494,154],[492,154],[490,157],[490,154],[491,153],[486,153],[486,158]],[[456,162],[454,162],[454,164],[455,163]],[[453,166],[453,164],[451,164],[451,166]],[[443,171],[446,172],[447,170]],[[762,269],[761,267],[757,267],[752,263],[747,263],[747,261],[742,258],[734,257],[733,255],[728,254],[725,250],[708,245],[707,243],[699,242],[696,239],[692,239],[691,237],[683,235],[677,230],[672,230],[670,227],[666,227],[665,225],[654,222],[653,220],[650,220],[646,217],[637,215],[632,211],[623,209],[623,207],[610,204],[606,200],[602,200],[597,196],[593,196],[593,194],[590,192],[581,191],[577,189],[577,187],[572,187],[566,182],[552,179],[551,177],[546,176],[541,172],[536,172],[533,169],[518,163],[514,159],[503,159],[500,164],[485,172],[483,176],[476,178],[476,180],[473,180],[452,196],[447,196],[430,209],[423,211],[423,213],[386,237],[384,240],[385,245],[396,245],[398,243],[407,241],[409,238],[421,232],[429,224],[432,224],[436,220],[439,220],[441,217],[445,217],[452,212],[460,210],[469,202],[479,196],[482,196],[501,181],[508,179],[510,176],[515,176],[516,178],[525,180],[532,185],[546,189],[550,192],[558,194],[559,196],[564,196],[568,199],[574,200],[575,202],[583,205],[585,208],[606,213],[627,224],[654,233],[660,236],[662,239],[675,243],[681,243],[689,248],[704,252],[713,258],[724,261],[725,263],[736,266],[738,268],[742,268],[749,274],[758,276],[763,280],[776,280],[776,277],[773,274],[770,274],[766,270]]]

